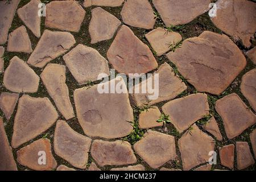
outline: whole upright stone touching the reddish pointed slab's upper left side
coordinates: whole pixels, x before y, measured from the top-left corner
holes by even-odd
[[[92,10],[92,19],[89,24],[90,43],[95,44],[103,40],[112,39],[120,24],[120,20],[108,13],[108,11],[101,7],[96,7]]]

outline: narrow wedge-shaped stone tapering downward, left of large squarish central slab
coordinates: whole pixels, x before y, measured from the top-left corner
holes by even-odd
[[[66,85],[66,67],[60,64],[48,64],[40,77],[46,89],[65,119],[75,117]]]

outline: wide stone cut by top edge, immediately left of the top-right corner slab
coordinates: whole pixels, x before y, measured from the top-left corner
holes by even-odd
[[[186,24],[208,10],[210,0],[153,0],[166,26]],[[189,10],[189,11],[188,11]]]

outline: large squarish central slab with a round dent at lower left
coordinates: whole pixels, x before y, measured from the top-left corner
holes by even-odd
[[[98,88],[111,84],[122,85],[126,93],[100,93]],[[99,90],[100,90],[99,89]],[[90,137],[120,138],[133,131],[133,109],[122,77],[94,85],[90,89],[81,88],[74,92],[77,118],[86,135]]]

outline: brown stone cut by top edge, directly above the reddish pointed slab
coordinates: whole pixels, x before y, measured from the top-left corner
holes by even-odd
[[[156,21],[154,10],[147,0],[126,0],[121,16],[125,24],[144,29],[154,28]]]

